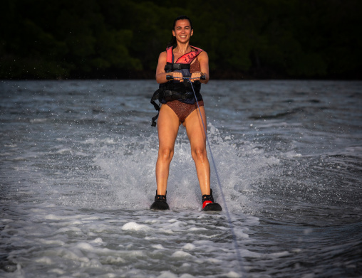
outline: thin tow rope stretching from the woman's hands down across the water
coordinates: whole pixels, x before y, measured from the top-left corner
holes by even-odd
[[[204,130],[205,130],[206,141],[207,141],[207,145],[209,146],[210,155],[211,155],[211,159],[212,159],[212,164],[214,166],[214,171],[216,173],[217,184],[219,185],[220,193],[221,193],[221,196],[222,196],[222,201],[224,202],[225,212],[227,214],[227,220],[229,221],[230,232],[232,232],[232,239],[234,241],[235,251],[237,252],[237,260],[239,261],[239,267],[240,267],[241,272],[244,273],[244,268],[243,268],[243,264],[242,264],[242,255],[240,255],[239,246],[237,245],[237,236],[235,235],[235,232],[234,232],[234,225],[232,225],[232,218],[231,218],[230,213],[229,213],[229,208],[227,208],[227,203],[226,203],[226,199],[225,199],[225,196],[224,196],[224,192],[222,191],[222,186],[221,186],[221,183],[220,183],[219,174],[217,173],[217,168],[216,168],[216,164],[215,164],[215,161],[214,161],[214,156],[212,155],[210,141],[209,141],[209,137],[207,137],[207,129],[206,129],[205,124],[204,124],[204,119],[202,119],[202,114],[201,114],[201,109],[200,109],[200,106],[199,106],[199,102],[197,101],[194,86],[192,85],[192,82],[190,81],[190,79],[189,79],[189,82],[191,84],[192,91],[194,92],[195,100],[196,100],[196,103],[197,103],[197,108],[199,109],[199,113],[200,113],[200,117],[201,117],[202,126],[204,127]]]

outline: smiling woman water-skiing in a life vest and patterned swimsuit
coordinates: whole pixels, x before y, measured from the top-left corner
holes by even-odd
[[[185,126],[190,140],[192,159],[195,161],[202,193],[202,209],[210,210],[218,205],[214,203],[210,189],[210,164],[207,159],[205,129],[202,125],[203,119],[206,127],[206,114],[200,95],[201,83],[206,84],[209,81],[209,58],[202,49],[190,46],[192,35],[190,18],[177,17],[172,28],[172,40],[167,45],[167,50],[158,58],[156,80],[160,84],[160,89],[155,92],[151,100],[159,110],[159,114],[152,119],[152,126],[155,126],[155,119],[158,117],[159,139],[156,164],[157,192],[155,203],[150,207],[155,210],[170,209],[166,202],[167,179],[180,124]],[[172,77],[172,80],[167,79],[167,75]],[[182,79],[185,76],[191,76],[202,119],[192,86],[190,82]],[[158,107],[155,100],[162,103],[161,107]],[[212,203],[214,205],[210,205]]]

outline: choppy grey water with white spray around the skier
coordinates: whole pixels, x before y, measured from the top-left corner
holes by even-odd
[[[143,81],[1,81],[0,277],[362,277],[362,82],[210,81],[227,215],[185,129],[167,200]],[[214,197],[221,192],[212,169]]]

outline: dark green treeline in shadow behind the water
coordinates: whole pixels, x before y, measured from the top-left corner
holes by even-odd
[[[360,0],[6,0],[0,78],[153,78],[174,18],[186,14],[214,78],[361,79],[361,8]]]

